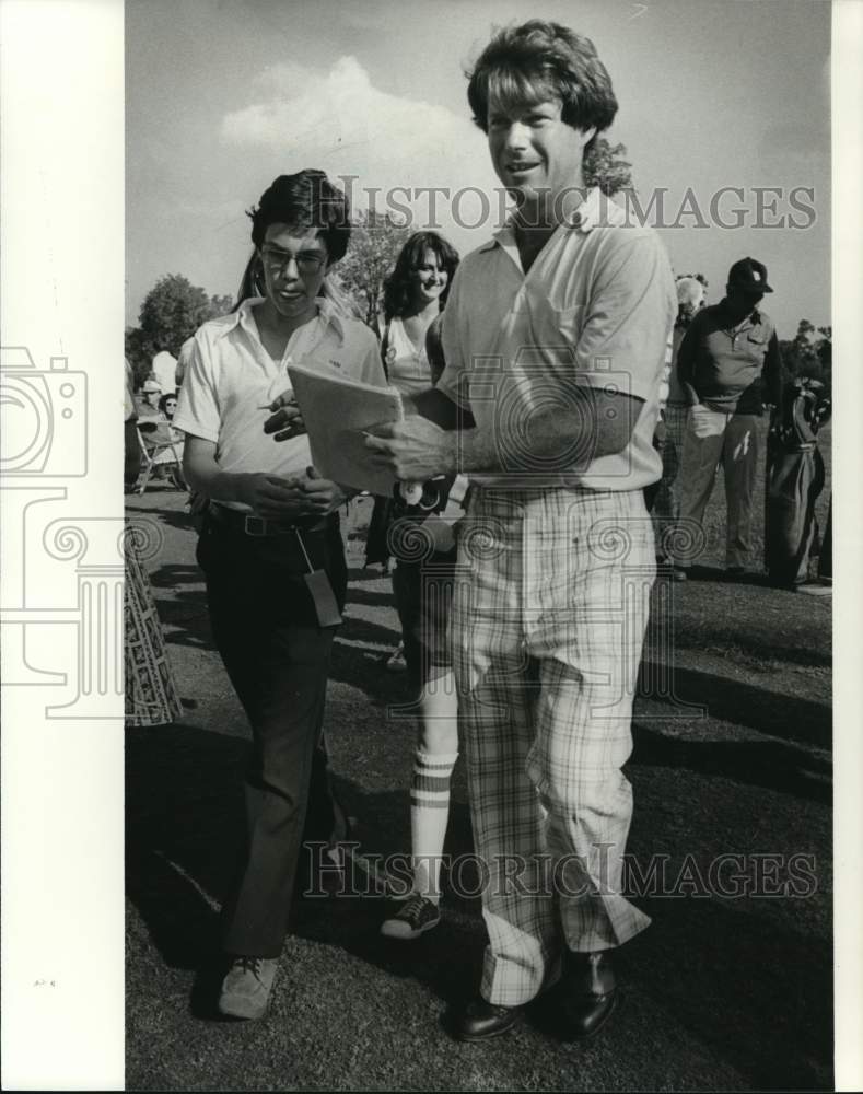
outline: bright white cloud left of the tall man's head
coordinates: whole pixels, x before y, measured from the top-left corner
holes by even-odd
[[[497,179],[482,133],[467,116],[444,106],[404,98],[376,89],[354,57],[341,57],[329,71],[280,65],[266,69],[256,83],[260,101],[226,115],[222,140],[241,148],[278,150],[293,170],[322,167],[330,177],[355,176],[354,205],[369,205],[369,190],[409,190],[415,223],[428,220],[430,199],[416,198],[420,187],[466,186],[489,193]],[[291,170],[285,166],[285,170]],[[378,209],[385,198],[375,199]],[[498,199],[489,202],[497,213]],[[452,209],[438,199],[440,224],[452,223]],[[456,210],[473,224],[482,202],[466,195]],[[422,222],[422,225],[421,223]],[[497,221],[495,221],[497,223]],[[483,225],[488,235],[489,224]]]

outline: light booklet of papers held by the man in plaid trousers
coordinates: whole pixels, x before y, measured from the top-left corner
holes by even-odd
[[[365,430],[405,417],[395,387],[374,387],[343,376],[288,366],[296,403],[308,432],[312,462],[325,478],[388,496],[396,477],[374,459]]]

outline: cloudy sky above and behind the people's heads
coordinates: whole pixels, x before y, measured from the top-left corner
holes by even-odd
[[[127,323],[166,274],[233,294],[245,210],[303,167],[480,245],[501,201],[464,72],[493,26],[532,18],[595,43],[620,103],[606,136],[674,269],[716,301],[753,256],[781,338],[830,324],[827,0],[127,0]]]

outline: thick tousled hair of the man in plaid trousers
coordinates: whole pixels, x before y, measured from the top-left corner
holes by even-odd
[[[488,132],[489,100],[504,105],[559,98],[561,118],[574,129],[607,129],[617,114],[611,79],[596,47],[560,23],[532,19],[498,31],[467,73],[474,121]],[[588,141],[585,149],[590,148]]]

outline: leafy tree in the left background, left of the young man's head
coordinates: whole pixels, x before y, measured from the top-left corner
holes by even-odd
[[[153,354],[166,349],[174,357],[201,323],[233,307],[231,296],[208,296],[179,274],[168,274],[144,296],[138,313],[140,326],[126,329],[126,356],[140,383],[150,371]]]

